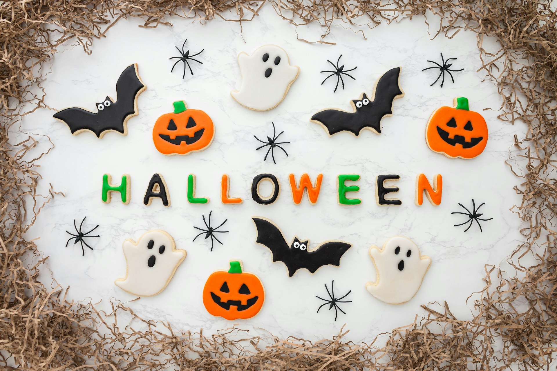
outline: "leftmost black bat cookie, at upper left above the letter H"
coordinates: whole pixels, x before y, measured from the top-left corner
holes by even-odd
[[[126,135],[126,122],[138,114],[137,98],[144,90],[145,85],[138,75],[138,65],[134,63],[126,67],[116,82],[116,101],[107,96],[104,102],[96,104],[96,113],[71,107],[56,112],[53,117],[65,122],[74,135],[85,130],[94,132],[99,138],[108,131]]]

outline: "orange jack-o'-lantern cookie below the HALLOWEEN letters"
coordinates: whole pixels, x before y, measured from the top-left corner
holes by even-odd
[[[231,260],[230,269],[212,273],[203,288],[203,305],[209,313],[228,320],[251,318],[265,301],[263,283],[242,270],[241,260]]]

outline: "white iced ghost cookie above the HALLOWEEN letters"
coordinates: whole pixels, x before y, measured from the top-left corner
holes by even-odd
[[[276,45],[263,45],[251,56],[241,52],[238,65],[242,84],[240,90],[231,91],[230,95],[242,106],[255,111],[278,106],[300,73],[300,67],[291,66],[284,49]]]

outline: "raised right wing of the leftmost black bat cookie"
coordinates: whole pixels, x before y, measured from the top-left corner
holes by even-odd
[[[110,112],[111,127],[106,130],[116,130],[123,134],[126,132],[126,121],[138,114],[137,98],[144,90],[145,85],[138,75],[137,64],[126,67],[116,82],[116,102]]]

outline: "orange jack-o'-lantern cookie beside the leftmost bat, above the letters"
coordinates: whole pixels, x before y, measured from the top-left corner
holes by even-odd
[[[211,117],[201,110],[191,110],[184,101],[174,102],[174,112],[157,118],[153,142],[163,155],[189,155],[203,151],[214,138]]]

